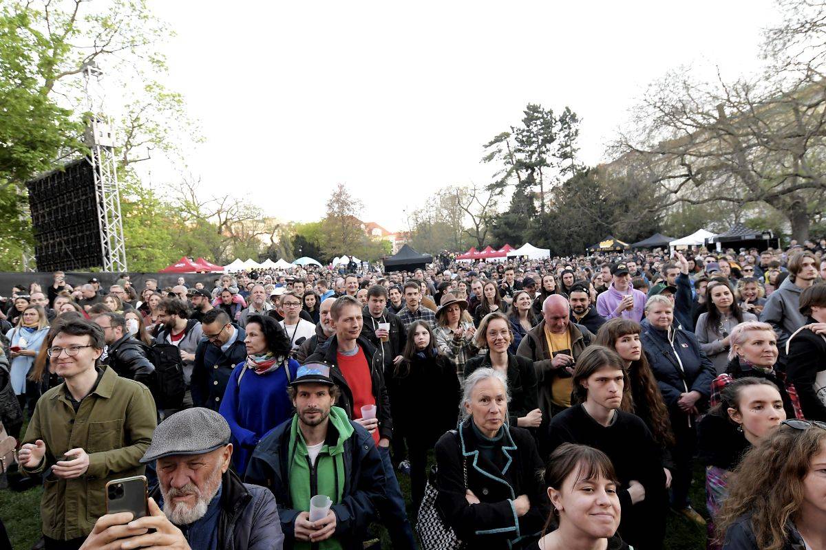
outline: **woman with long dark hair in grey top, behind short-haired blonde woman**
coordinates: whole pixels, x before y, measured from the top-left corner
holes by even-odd
[[[694,335],[700,349],[714,363],[717,374],[723,374],[729,364],[731,332],[741,322],[757,321],[753,313],[744,313],[734,298],[731,285],[712,280],[705,288],[705,313],[700,313]]]

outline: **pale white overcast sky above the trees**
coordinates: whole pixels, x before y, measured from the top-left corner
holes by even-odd
[[[200,121],[188,169],[207,194],[313,221],[340,181],[391,231],[440,186],[490,181],[482,144],[527,103],[575,110],[582,162],[600,162],[649,82],[753,70],[776,18],[767,0],[151,5],[178,33],[169,86]]]

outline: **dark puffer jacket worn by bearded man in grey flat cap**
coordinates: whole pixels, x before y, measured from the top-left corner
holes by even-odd
[[[155,487],[150,496],[160,502],[160,486]],[[283,543],[284,534],[273,493],[264,487],[242,483],[232,470],[224,472],[217,548],[272,550],[282,548]]]

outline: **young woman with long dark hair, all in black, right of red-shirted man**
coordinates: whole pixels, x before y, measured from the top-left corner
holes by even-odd
[[[411,463],[413,505],[425,495],[427,452],[447,430],[456,427],[459,380],[453,363],[439,355],[430,325],[416,321],[407,330],[407,341],[387,391],[393,407],[393,435],[403,437]],[[430,403],[422,407],[421,399]]]

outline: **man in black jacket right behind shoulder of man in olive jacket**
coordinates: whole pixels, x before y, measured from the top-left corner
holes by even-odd
[[[126,330],[126,317],[120,313],[107,312],[94,317],[93,322],[103,330],[107,344],[104,362],[119,376],[140,382],[152,390],[156,389],[154,364],[146,356],[143,344]]]

